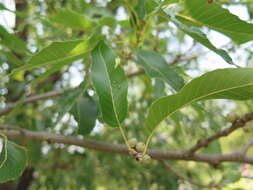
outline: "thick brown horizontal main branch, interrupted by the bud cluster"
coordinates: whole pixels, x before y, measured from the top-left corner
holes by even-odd
[[[111,144],[107,142],[88,140],[75,136],[63,136],[58,134],[51,134],[47,132],[35,132],[22,128],[13,127],[8,129],[8,126],[0,126],[0,133],[5,134],[9,139],[22,139],[30,141],[46,141],[49,143],[62,143],[66,145],[76,145],[88,149],[93,149],[103,152],[112,152],[128,155],[128,149],[122,144]],[[187,154],[185,151],[161,151],[157,149],[149,149],[147,152],[152,159],[156,160],[185,160],[204,162],[209,164],[218,164],[221,162],[241,162],[253,164],[253,158],[241,156],[241,154]]]

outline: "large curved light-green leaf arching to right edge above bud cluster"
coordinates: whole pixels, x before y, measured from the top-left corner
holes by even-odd
[[[152,133],[166,117],[200,100],[253,98],[253,69],[219,69],[192,80],[177,94],[155,101],[148,112],[145,128]]]

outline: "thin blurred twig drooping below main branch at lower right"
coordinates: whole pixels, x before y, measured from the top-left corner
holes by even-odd
[[[183,181],[187,181],[188,183],[198,186],[198,187],[202,187],[202,188],[220,188],[219,184],[213,184],[213,183],[209,183],[207,185],[198,183],[193,181],[192,179],[188,178],[187,176],[183,176],[180,174],[180,172],[178,172],[175,168],[173,168],[171,165],[169,165],[167,162],[165,161],[161,161],[161,163],[167,168],[169,169],[172,173],[174,173],[179,179],[183,180]]]

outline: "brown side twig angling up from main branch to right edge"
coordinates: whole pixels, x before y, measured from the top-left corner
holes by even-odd
[[[187,152],[188,154],[194,154],[196,151],[203,147],[207,147],[211,142],[221,138],[230,135],[235,130],[242,128],[245,126],[245,124],[249,121],[253,120],[253,112],[247,113],[244,117],[234,121],[231,125],[231,127],[226,128],[206,139],[199,140],[196,145],[194,145],[192,148],[190,148]]]

